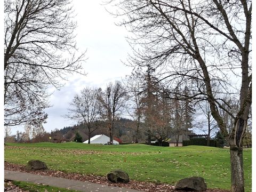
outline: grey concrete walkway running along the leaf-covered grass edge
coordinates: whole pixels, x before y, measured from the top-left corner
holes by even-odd
[[[4,179],[15,180],[15,181],[26,181],[32,183],[43,183],[45,185],[69,188],[78,191],[86,192],[139,192],[134,189],[119,188],[112,186],[100,185],[98,183],[90,183],[83,181],[76,181],[64,178],[49,177],[45,175],[36,175],[32,173],[20,172],[20,171],[9,171],[4,170]]]

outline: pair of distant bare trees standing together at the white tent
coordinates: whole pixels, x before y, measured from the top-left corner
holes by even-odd
[[[78,123],[85,123],[88,129],[90,143],[91,133],[99,125],[97,122],[105,121],[110,136],[110,143],[113,143],[113,130],[118,111],[124,106],[125,90],[121,82],[109,83],[106,90],[86,87],[81,94],[75,94],[68,108],[66,118],[76,120]]]

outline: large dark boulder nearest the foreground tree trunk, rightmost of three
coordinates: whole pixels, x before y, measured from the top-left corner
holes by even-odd
[[[185,191],[205,191],[206,183],[202,177],[190,177],[178,181],[175,189]]]

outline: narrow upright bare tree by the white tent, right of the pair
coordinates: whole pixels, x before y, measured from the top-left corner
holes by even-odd
[[[115,129],[115,120],[118,116],[118,112],[121,113],[122,108],[125,105],[126,92],[120,81],[116,81],[115,84],[109,83],[106,90],[101,93],[100,102],[103,106],[103,117],[107,120],[107,126],[109,130],[110,144],[113,144],[113,132]]]

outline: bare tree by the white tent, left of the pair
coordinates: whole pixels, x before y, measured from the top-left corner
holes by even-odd
[[[89,144],[91,134],[98,129],[98,126],[95,126],[94,123],[101,118],[99,97],[100,89],[86,87],[81,91],[81,94],[75,94],[72,102],[69,103],[69,113],[64,116],[73,119],[78,123],[86,124]]]

